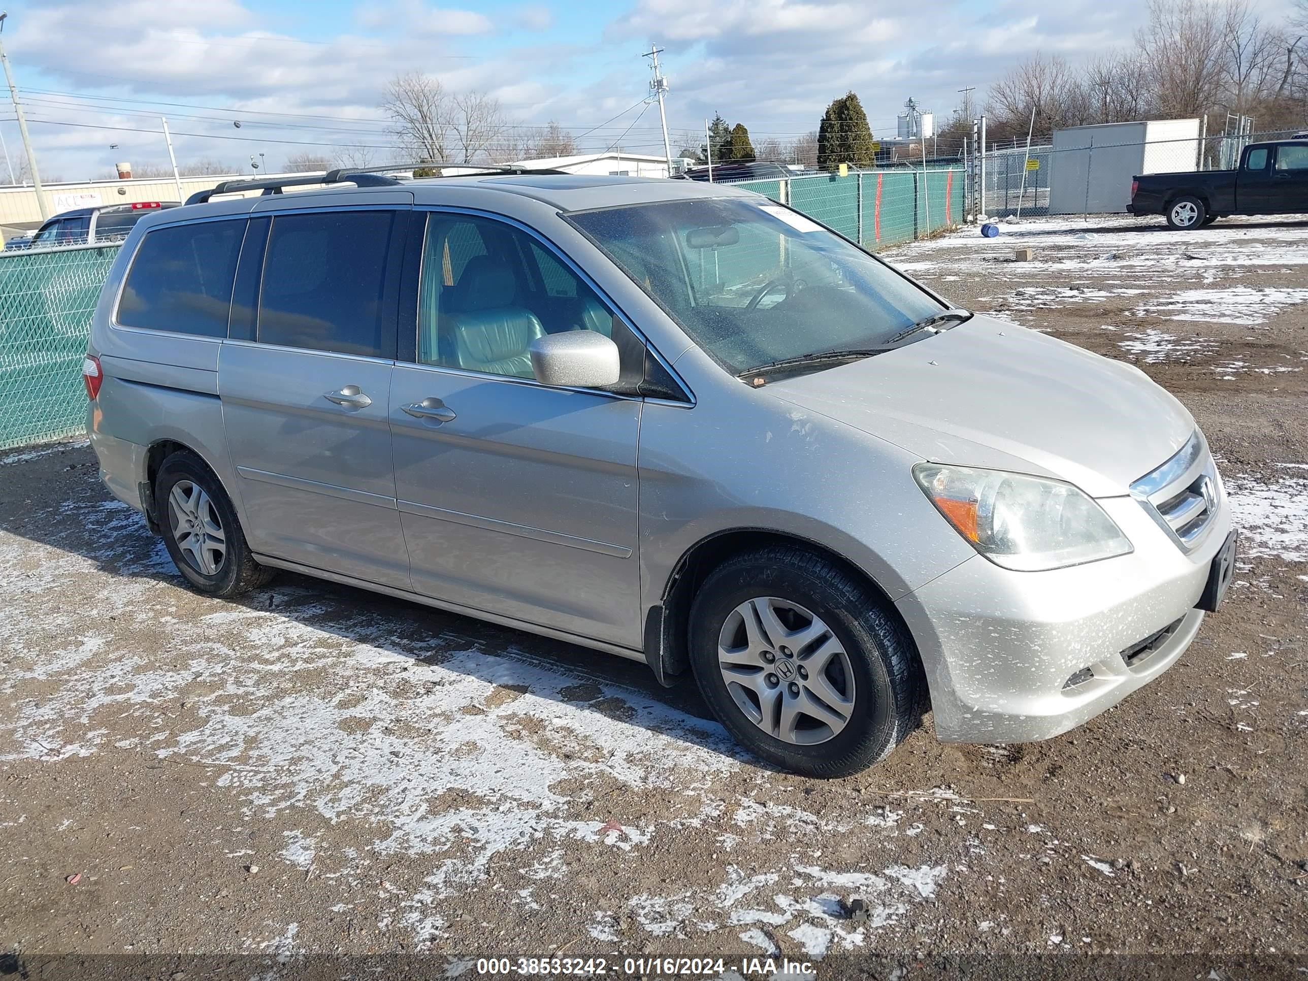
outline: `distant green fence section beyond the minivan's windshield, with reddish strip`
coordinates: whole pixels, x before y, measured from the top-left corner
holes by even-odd
[[[963,222],[967,173],[872,170],[732,184],[766,195],[867,249],[912,242]]]

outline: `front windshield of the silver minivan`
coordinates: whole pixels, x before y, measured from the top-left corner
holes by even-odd
[[[760,198],[688,199],[566,216],[734,374],[821,370],[931,336],[946,307],[867,252]],[[803,364],[803,368],[799,368]]]

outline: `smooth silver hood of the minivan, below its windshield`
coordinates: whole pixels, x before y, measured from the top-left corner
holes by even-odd
[[[1059,477],[1092,497],[1129,493],[1194,432],[1137,368],[982,315],[764,391],[935,463]]]

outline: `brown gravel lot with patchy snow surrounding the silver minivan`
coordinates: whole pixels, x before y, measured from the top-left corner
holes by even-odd
[[[1134,361],[1203,426],[1244,553],[1171,671],[1045,743],[927,717],[808,781],[640,664],[290,574],[199,596],[85,443],[9,453],[0,977],[1305,977],[1308,222],[1031,220],[888,258]]]

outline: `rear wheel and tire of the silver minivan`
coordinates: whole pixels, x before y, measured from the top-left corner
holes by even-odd
[[[222,484],[190,450],[160,466],[154,510],[177,570],[198,593],[230,599],[272,578],[273,570],[251,557]]]

